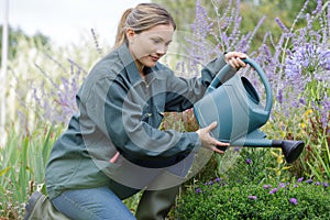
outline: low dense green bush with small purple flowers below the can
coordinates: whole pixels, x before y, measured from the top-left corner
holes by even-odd
[[[217,178],[186,191],[176,219],[330,219],[328,183],[227,183]]]

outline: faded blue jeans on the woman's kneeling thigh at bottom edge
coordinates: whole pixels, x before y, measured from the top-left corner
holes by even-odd
[[[136,190],[132,190],[134,193]],[[58,211],[73,220],[135,220],[109,187],[67,190],[52,202]]]

